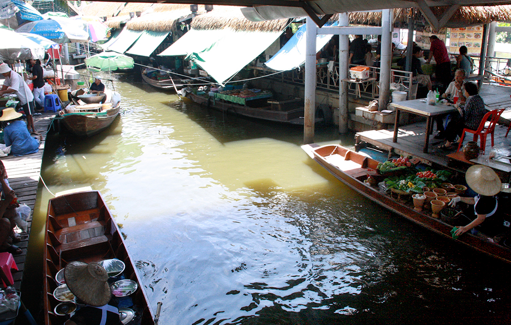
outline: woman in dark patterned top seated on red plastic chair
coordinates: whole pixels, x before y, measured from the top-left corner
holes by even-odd
[[[451,149],[452,143],[457,136],[461,136],[464,128],[477,130],[479,124],[488,111],[484,108],[484,102],[478,94],[477,85],[473,82],[465,84],[464,96],[467,98],[464,108],[456,104],[459,114],[451,114],[451,121],[445,130],[446,142],[440,145],[440,149]]]

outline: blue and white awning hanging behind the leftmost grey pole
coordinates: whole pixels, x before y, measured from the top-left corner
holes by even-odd
[[[329,26],[337,26],[338,22]],[[305,63],[305,46],[306,46],[306,25],[303,24],[291,39],[271,57],[265,64],[267,67],[277,70],[286,71],[299,67]],[[333,35],[317,35],[316,36],[316,53],[323,46],[327,45]]]

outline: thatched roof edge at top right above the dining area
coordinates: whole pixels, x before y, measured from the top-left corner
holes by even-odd
[[[448,7],[431,7],[431,11],[436,17],[442,16],[447,9]],[[412,8],[402,10],[394,9],[394,17],[396,17],[396,21],[407,22],[410,10],[412,10],[412,15],[415,20],[423,20],[421,12]],[[337,18],[332,17],[331,19]],[[492,21],[511,22],[511,6],[460,7],[454,15],[452,15],[445,27],[459,28],[477,26]],[[351,12],[350,23],[380,26],[381,12]]]

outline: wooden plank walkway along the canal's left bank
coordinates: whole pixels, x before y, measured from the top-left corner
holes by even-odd
[[[44,152],[44,144],[46,139],[46,133],[50,126],[52,117],[55,113],[43,113],[42,115],[34,116],[34,124],[36,130],[42,134],[43,140],[39,146],[39,151],[35,154],[14,157],[9,155],[3,157],[2,162],[7,169],[7,176],[9,177],[9,184],[12,189],[16,192],[18,201],[28,205],[34,211],[34,205],[36,201],[37,186],[39,184],[39,175],[41,173],[42,156]],[[21,280],[23,277],[23,270],[25,266],[25,260],[27,258],[27,246],[29,242],[29,235],[32,226],[32,213],[28,221],[29,229],[28,233],[22,233],[20,229],[15,230],[20,233],[21,241],[15,243],[21,247],[23,253],[14,255],[14,261],[18,266],[18,270],[12,272],[14,279],[14,287],[19,290],[21,287]]]

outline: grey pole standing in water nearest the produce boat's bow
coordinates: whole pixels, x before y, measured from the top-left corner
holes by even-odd
[[[304,144],[314,142],[316,108],[316,24],[307,17],[305,48],[305,115]]]

